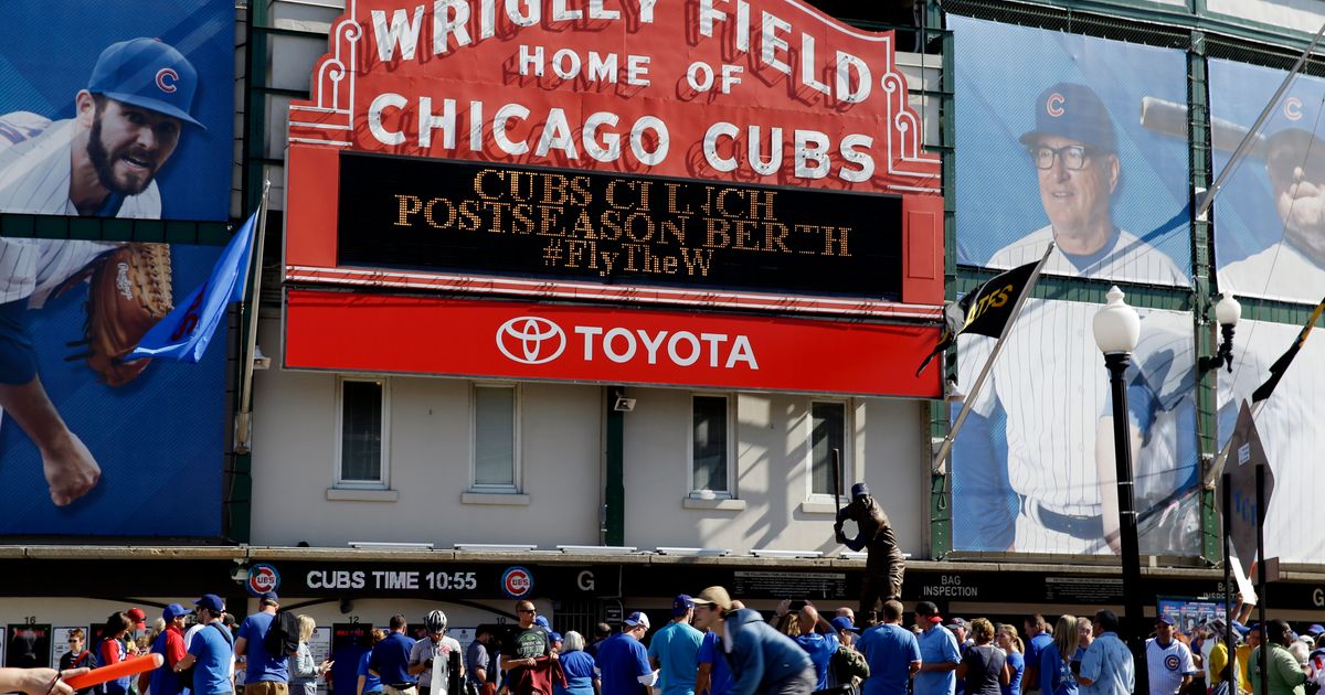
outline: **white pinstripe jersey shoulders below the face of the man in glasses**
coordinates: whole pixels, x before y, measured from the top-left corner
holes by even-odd
[[[1044,248],[1052,240],[1053,226],[1043,226],[999,249],[986,265],[1010,269],[1034,263],[1040,259]],[[1079,263],[1084,265],[1079,266]],[[1044,263],[1044,273],[1077,278],[1190,285],[1187,274],[1179,270],[1171,258],[1124,229],[1118,230],[1112,245],[1085,259],[1073,259],[1064,254],[1061,248],[1055,246],[1049,259]]]

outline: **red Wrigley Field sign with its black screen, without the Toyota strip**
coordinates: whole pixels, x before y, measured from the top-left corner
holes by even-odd
[[[931,319],[920,128],[893,33],[791,0],[356,0],[290,107],[286,279]]]

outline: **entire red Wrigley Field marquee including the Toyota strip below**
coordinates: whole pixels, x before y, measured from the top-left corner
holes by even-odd
[[[286,365],[937,396],[939,159],[894,53],[800,0],[346,0],[290,106]],[[861,267],[900,282],[832,282]]]

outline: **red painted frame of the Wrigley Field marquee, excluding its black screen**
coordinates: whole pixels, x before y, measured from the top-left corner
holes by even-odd
[[[325,271],[347,269],[337,253],[335,201],[363,195],[341,176],[339,154],[354,151],[900,196],[900,220],[852,230],[896,236],[889,267],[902,275],[900,297],[863,297],[849,312],[890,316],[904,304],[937,316],[939,159],[922,150],[893,38],[799,0],[347,0],[310,99],[290,106],[286,278],[331,283]],[[419,196],[399,197],[401,220],[433,210]],[[712,228],[689,236],[714,241]],[[367,285],[500,291],[493,279],[472,270],[374,269]],[[583,285],[554,278],[538,294],[579,299]],[[607,290],[595,294],[617,302],[676,297],[629,277],[600,285]],[[784,312],[843,307],[840,299],[757,291],[704,289],[684,302],[772,303]]]

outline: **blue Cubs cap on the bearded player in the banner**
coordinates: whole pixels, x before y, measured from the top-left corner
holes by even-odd
[[[189,111],[197,70],[183,53],[158,38],[130,38],[106,46],[91,69],[87,91],[105,94],[207,130]]]

